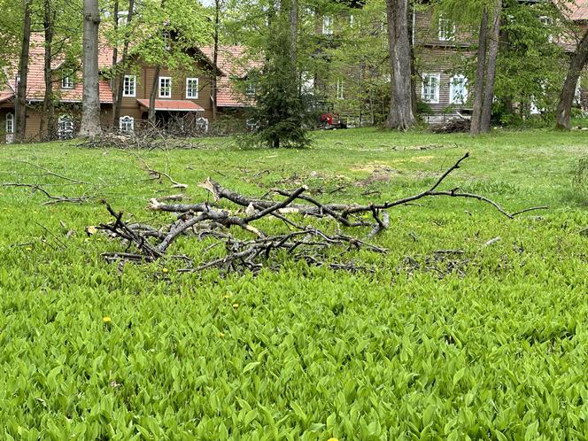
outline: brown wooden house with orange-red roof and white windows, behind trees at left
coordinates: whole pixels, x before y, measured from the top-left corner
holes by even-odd
[[[243,48],[221,47],[218,66],[213,66],[212,52],[211,48],[194,48],[190,52],[190,59],[193,60],[191,66],[176,70],[162,66],[157,79],[155,66],[134,59],[131,63],[133,67],[124,77],[118,121],[112,121],[112,81],[101,76],[101,124],[104,129],[128,132],[146,125],[151,90],[155,87],[155,115],[159,127],[184,129],[190,126],[206,131],[213,122],[211,79],[214,72],[218,75],[219,115],[226,112],[235,114],[236,111],[251,105],[247,95],[242,92],[246,89],[245,85],[239,87],[239,82],[242,82],[240,79],[244,78],[246,72],[236,60],[243,58]],[[34,34],[27,76],[27,141],[47,138],[46,133],[41,133],[45,94],[43,62],[43,35]],[[112,48],[108,45],[101,45],[99,66],[103,74],[110,72],[112,68]],[[51,68],[54,72],[53,94],[58,122],[57,134],[53,137],[72,137],[77,132],[81,120],[81,74],[79,71],[68,69],[65,59],[56,59]],[[0,86],[0,142],[12,143],[16,128],[16,69],[9,69],[4,76],[4,84]],[[43,131],[46,131],[46,128]]]

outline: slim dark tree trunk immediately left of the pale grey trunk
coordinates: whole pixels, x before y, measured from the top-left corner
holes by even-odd
[[[53,70],[51,69],[55,12],[51,10],[50,0],[43,2],[43,27],[45,28],[45,59],[43,74],[45,77],[45,97],[43,98],[43,115],[39,133],[45,140],[55,139],[55,103],[53,95]]]

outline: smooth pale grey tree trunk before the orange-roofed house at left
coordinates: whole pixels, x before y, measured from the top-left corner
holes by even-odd
[[[83,93],[81,98],[80,135],[94,137],[100,128],[100,89],[98,78],[98,0],[84,0],[83,24]]]

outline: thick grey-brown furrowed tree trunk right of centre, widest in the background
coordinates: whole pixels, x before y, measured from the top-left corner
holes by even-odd
[[[408,0],[386,0],[386,16],[391,61],[391,100],[386,127],[406,130],[414,124]]]

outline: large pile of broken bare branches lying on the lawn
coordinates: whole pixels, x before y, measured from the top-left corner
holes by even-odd
[[[257,272],[264,266],[275,267],[278,261],[275,257],[278,253],[285,253],[295,260],[305,260],[313,266],[325,265],[334,269],[360,271],[368,270],[368,268],[358,267],[352,261],[331,262],[329,250],[336,248],[339,256],[344,255],[346,251],[358,249],[385,253],[385,249],[367,241],[389,227],[390,215],[387,211],[391,208],[408,205],[425,197],[476,199],[492,205],[499,213],[510,219],[520,213],[545,208],[533,207],[517,213],[508,213],[501,205],[481,195],[462,192],[458,188],[438,190],[447,176],[460,168],[461,162],[468,156],[466,153],[428,190],[392,202],[377,204],[323,204],[307,194],[306,186],[296,190],[274,189],[264,197],[247,197],[221,186],[210,178],[199,184],[199,187],[213,196],[213,202],[169,204],[167,201],[151,199],[149,208],[152,211],[174,213],[175,221],[171,225],[154,227],[126,223],[122,221],[123,213],[115,212],[110,205],[106,204],[114,221],[102,224],[99,228],[110,236],[119,238],[127,245],[127,249],[123,252],[104,253],[103,256],[108,261],[123,263],[152,262],[166,256],[168,249],[178,237],[190,236],[197,240],[213,239],[213,244],[206,248],[203,255],[219,245],[224,245],[224,251],[220,257],[205,259],[197,265],[190,256],[172,256],[187,262],[187,267],[181,271],[220,268],[227,272],[243,270]],[[282,199],[275,200],[275,197],[282,197]],[[221,208],[221,201],[234,205],[236,210]],[[270,217],[282,221],[287,231],[269,235],[256,226],[257,221]],[[298,223],[301,219],[306,222],[305,225]],[[328,233],[308,223],[313,219],[328,219],[335,222],[337,233]],[[353,236],[343,234],[342,228],[352,231],[364,228],[365,232],[361,237]],[[237,236],[234,234],[236,230],[242,231],[243,234]]]

